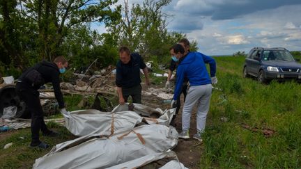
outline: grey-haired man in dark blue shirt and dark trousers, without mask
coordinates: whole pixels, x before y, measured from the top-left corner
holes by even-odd
[[[120,61],[118,61],[116,66],[116,86],[119,104],[128,102],[129,96],[132,97],[132,102],[141,104],[140,69],[144,72],[146,85],[150,85],[146,64],[139,54],[130,54],[128,47],[119,48],[119,57]]]

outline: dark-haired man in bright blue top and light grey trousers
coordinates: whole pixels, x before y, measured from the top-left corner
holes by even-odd
[[[185,49],[182,45],[176,44],[171,47],[174,56],[180,59],[181,62],[177,68],[176,89],[174,91],[171,107],[176,107],[178,95],[180,95],[183,80],[186,77],[190,83],[182,111],[182,132],[179,138],[190,138],[190,117],[192,108],[197,103],[196,112],[196,129],[197,133],[193,138],[202,141],[201,134],[206,126],[207,113],[210,106],[210,97],[212,84],[217,83],[215,77],[216,63],[213,58],[201,54],[200,52],[190,52],[185,54]],[[206,69],[206,63],[210,65],[210,76]]]

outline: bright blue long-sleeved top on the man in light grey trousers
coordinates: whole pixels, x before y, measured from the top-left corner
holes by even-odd
[[[190,86],[200,86],[211,83],[205,63],[209,63],[210,65],[210,76],[215,77],[216,64],[213,58],[199,52],[190,52],[185,56],[177,68],[176,89],[173,95],[174,100],[180,95],[184,77],[187,77]]]

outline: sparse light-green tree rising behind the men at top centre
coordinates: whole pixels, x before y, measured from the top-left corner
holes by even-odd
[[[128,5],[124,0],[123,17],[111,23],[109,32],[118,45],[127,45],[145,58],[169,56],[169,47],[184,38],[183,33],[167,31],[167,13],[162,11],[171,0],[144,0],[141,5]]]

